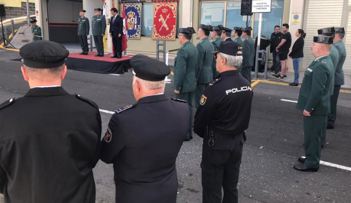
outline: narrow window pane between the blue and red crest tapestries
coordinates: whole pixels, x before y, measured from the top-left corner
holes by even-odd
[[[151,36],[154,24],[154,5],[142,4],[141,11],[141,35]]]

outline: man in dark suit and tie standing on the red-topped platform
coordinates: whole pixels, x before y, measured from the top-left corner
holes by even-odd
[[[114,55],[111,58],[122,58],[123,19],[118,15],[116,8],[111,9],[111,14],[109,32],[114,49]]]

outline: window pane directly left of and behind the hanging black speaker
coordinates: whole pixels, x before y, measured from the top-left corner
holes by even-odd
[[[240,15],[241,2],[228,2],[225,26],[233,29],[236,27],[246,27],[246,16]],[[250,20],[250,16],[249,16]],[[251,26],[251,21],[249,23]]]

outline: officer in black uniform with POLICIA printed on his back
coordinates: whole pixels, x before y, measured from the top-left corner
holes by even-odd
[[[195,115],[194,132],[203,138],[203,203],[238,202],[244,130],[249,126],[253,95],[250,83],[238,71],[241,49],[235,42],[220,44],[215,52],[219,78],[203,92]]]

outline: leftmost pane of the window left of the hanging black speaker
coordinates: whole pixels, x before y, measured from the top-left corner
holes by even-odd
[[[200,24],[223,25],[224,24],[224,2],[201,3]]]

